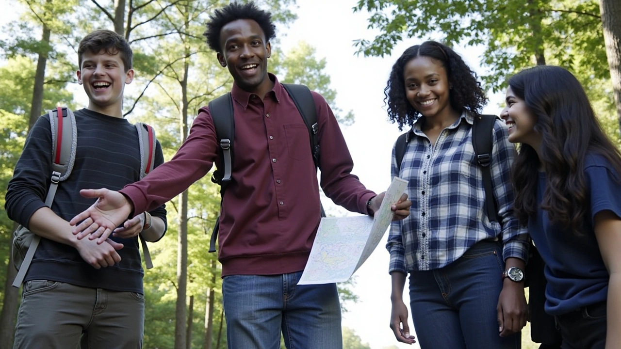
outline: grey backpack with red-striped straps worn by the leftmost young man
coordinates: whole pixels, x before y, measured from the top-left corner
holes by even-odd
[[[57,107],[55,110],[48,110],[47,112],[50,117],[50,128],[52,129],[52,174],[50,176],[50,188],[45,197],[45,205],[52,207],[58,184],[69,178],[71,170],[73,170],[78,132],[76,119],[71,109]],[[153,170],[155,165],[155,131],[152,127],[142,122],[138,122],[135,126],[138,132],[140,147],[140,178],[143,178]],[[142,238],[142,235],[138,236],[142,244],[147,269],[153,268],[147,242]],[[24,282],[24,277],[30,267],[40,240],[41,237],[39,235],[30,232],[22,225],[19,225],[13,233],[13,266],[18,272],[12,286],[19,288]]]

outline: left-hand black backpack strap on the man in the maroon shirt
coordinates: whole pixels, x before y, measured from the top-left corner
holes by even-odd
[[[233,98],[230,93],[223,94],[209,102],[209,114],[214,120],[215,135],[220,140],[222,150],[222,166],[214,171],[211,180],[220,184],[220,194],[224,194],[225,183],[231,179],[233,171],[232,150],[233,138],[235,137],[235,118],[233,117]]]

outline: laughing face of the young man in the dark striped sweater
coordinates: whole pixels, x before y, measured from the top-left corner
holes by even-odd
[[[77,74],[89,99],[87,109],[122,117],[123,91],[134,79],[134,70],[125,71],[120,53],[85,52]]]

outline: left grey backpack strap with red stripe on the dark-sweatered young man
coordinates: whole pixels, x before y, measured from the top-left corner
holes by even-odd
[[[58,183],[69,178],[73,163],[76,158],[78,131],[73,111],[67,107],[57,107],[49,110],[50,130],[52,131],[52,174],[50,176],[50,188],[45,196],[45,206],[52,207],[54,196],[58,189]],[[24,256],[24,261],[17,271],[12,286],[19,288],[24,282],[26,272],[30,268],[32,258],[35,255],[41,237],[33,233],[32,242]]]

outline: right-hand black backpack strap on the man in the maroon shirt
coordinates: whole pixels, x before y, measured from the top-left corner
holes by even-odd
[[[315,109],[315,101],[312,98],[311,90],[304,85],[299,84],[283,84],[291,99],[296,104],[297,111],[300,112],[304,124],[309,129],[311,138],[312,160],[315,162],[315,170],[319,168],[319,124],[317,124],[317,109]],[[324,216],[325,217],[325,216]]]

